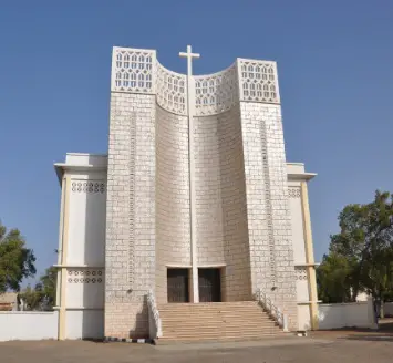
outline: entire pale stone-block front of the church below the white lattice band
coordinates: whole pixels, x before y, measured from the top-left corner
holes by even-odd
[[[194,123],[198,265],[224,266],[224,300],[261,288],[296,325],[280,106]],[[113,92],[107,178],[105,335],[144,336],[148,290],[166,302],[166,266],[190,265],[187,118]]]

